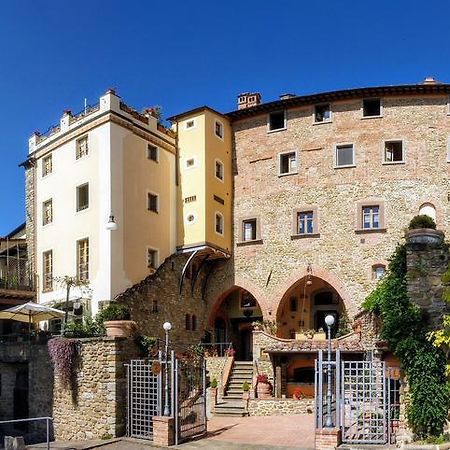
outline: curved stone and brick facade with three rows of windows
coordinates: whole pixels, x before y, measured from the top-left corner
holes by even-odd
[[[333,119],[313,124],[313,105],[287,111],[286,130],[268,133],[267,114],[233,124],[234,266],[236,278],[274,319],[284,293],[312,275],[334,287],[352,318],[376,286],[371,267],[384,263],[425,202],[438,228],[450,231],[447,201],[447,98],[387,97],[383,117],[361,119],[362,99],[333,102]],[[403,139],[405,163],[383,164],[383,141]],[[350,142],[355,167],[334,168],[335,145]],[[298,173],[278,175],[278,155],[297,151]],[[384,202],[384,227],[356,231],[358,202]],[[292,239],[293,211],[317,208],[318,233]],[[241,219],[260,220],[261,240],[236,245]],[[313,280],[314,281],[314,280]],[[314,285],[312,286],[314,288]]]

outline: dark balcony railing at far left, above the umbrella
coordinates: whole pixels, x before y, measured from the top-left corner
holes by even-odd
[[[27,258],[0,256],[0,288],[32,291],[33,278]]]

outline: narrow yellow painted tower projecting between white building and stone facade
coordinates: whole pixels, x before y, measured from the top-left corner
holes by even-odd
[[[177,248],[210,246],[230,254],[232,139],[229,120],[209,108],[201,108],[175,118],[174,122],[179,152]],[[222,167],[221,174],[216,164]]]

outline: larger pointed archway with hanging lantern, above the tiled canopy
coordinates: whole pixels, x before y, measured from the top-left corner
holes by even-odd
[[[277,311],[277,335],[295,339],[304,331],[326,331],[325,317],[328,314],[336,318],[333,337],[350,331],[346,328],[345,306],[336,289],[319,277],[307,275],[284,294]]]

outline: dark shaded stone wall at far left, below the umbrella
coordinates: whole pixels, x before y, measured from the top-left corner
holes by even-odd
[[[17,374],[23,374],[27,379]],[[53,367],[47,345],[33,342],[3,343],[0,345],[0,420],[14,419],[14,390],[16,387],[26,396],[28,390],[28,414],[26,417],[51,417],[53,406]],[[18,384],[20,383],[20,385]],[[28,389],[27,389],[28,388]],[[18,393],[20,395],[20,393]],[[28,428],[14,430],[10,426],[0,428],[0,435],[24,436],[28,443],[42,442],[46,436],[45,421],[30,422]]]

